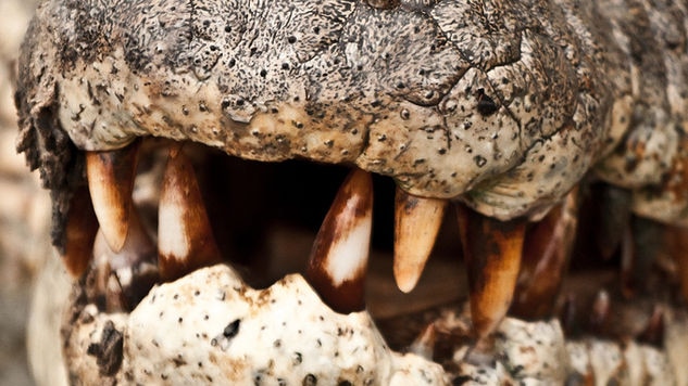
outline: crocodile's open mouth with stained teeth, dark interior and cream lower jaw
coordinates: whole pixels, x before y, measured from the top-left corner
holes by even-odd
[[[373,178],[359,169],[303,162],[247,162],[195,143],[140,139],[124,150],[88,153],[86,170],[90,194],[85,190],[73,198],[63,256],[73,273],[82,276],[63,334],[71,370],[85,379],[109,376],[152,382],[162,376],[163,381],[177,383],[202,374],[203,382],[211,383],[223,377],[239,382],[248,376],[259,383],[274,379],[290,384],[298,378],[356,384],[395,378],[373,371],[370,366],[374,363],[390,366],[392,374],[413,374],[396,381],[413,384],[418,379],[477,382],[485,379],[486,369],[493,382],[626,382],[631,375],[635,379],[672,379],[667,375],[673,373],[672,363],[683,358],[683,353],[670,358],[671,350],[665,346],[665,330],[675,335],[685,323],[679,283],[671,279],[676,267],[661,267],[674,265],[671,259],[661,260],[665,258],[662,253],[674,253],[666,249],[672,244],[667,239],[659,245],[636,243],[646,248],[655,246],[649,252],[633,252],[634,261],[641,262],[637,256],[645,253],[651,255],[650,267],[641,267],[642,272],[638,267],[622,267],[622,255],[629,253],[628,246],[617,246],[606,260],[598,256],[598,263],[581,261],[588,254],[600,255],[597,245],[580,241],[589,237],[585,233],[587,223],[599,220],[583,216],[584,227],[577,227],[581,205],[574,195],[538,223],[499,222],[503,228],[490,230],[486,226],[471,228],[467,222],[479,224],[481,219],[460,204],[438,201],[440,207],[430,205],[428,215],[423,198],[416,198],[420,203],[409,200],[388,178]],[[237,185],[242,189],[237,190]],[[588,196],[585,207],[596,205],[605,194],[614,194],[605,193],[609,186],[590,189],[597,193]],[[403,222],[413,218],[414,210],[424,210],[417,220],[422,227],[403,233]],[[437,220],[428,224],[433,214]],[[633,221],[640,230],[636,240],[648,232],[650,237],[672,234],[664,226]],[[101,226],[96,234],[98,223]],[[525,228],[523,237],[504,236],[518,227]],[[421,235],[428,228],[437,231]],[[246,237],[247,233],[251,239]],[[379,241],[371,242],[372,235]],[[404,242],[403,237],[414,239]],[[505,243],[495,241],[497,237],[504,237]],[[474,240],[478,243],[472,243]],[[503,271],[499,272],[489,265],[489,253],[480,253],[498,248],[500,258],[509,256],[504,250],[509,243],[516,243],[518,255],[523,255],[511,288],[504,285],[504,279],[500,279],[497,290],[466,283],[466,271],[474,280],[509,274],[509,269],[500,267]],[[473,250],[466,248],[471,245]],[[435,253],[424,270],[433,246]],[[593,249],[598,252],[591,253]],[[415,258],[403,260],[404,253]],[[471,272],[471,262],[462,262],[466,254],[488,265]],[[568,271],[571,255],[575,262]],[[290,275],[292,272],[301,272],[305,281]],[[634,275],[640,274],[642,283],[638,284]],[[489,286],[489,279],[485,282]],[[171,284],[153,288],[161,283]],[[411,294],[402,295],[398,288]],[[238,298],[233,297],[233,291]],[[414,296],[416,292],[421,295]],[[464,308],[466,298],[475,307],[471,308],[473,312],[483,312],[483,320],[476,320]],[[492,306],[486,298],[506,299],[506,305]],[[266,306],[275,304],[279,307]],[[363,317],[367,314],[366,305],[373,319]],[[247,307],[248,312],[243,309]],[[289,307],[327,321],[287,317],[284,313],[289,311],[284,308]],[[351,321],[351,316],[359,320]],[[282,320],[296,326],[283,326]],[[372,333],[377,331],[373,321],[384,340]],[[287,347],[279,348],[289,335],[318,342],[318,336],[328,336],[328,327],[324,333],[318,325],[328,323],[336,331],[361,334],[363,343],[358,344],[378,347],[372,353],[355,344],[341,343],[330,343],[333,347],[318,348],[315,353],[299,343],[285,343]],[[252,324],[265,330],[252,332]],[[314,330],[304,334],[305,329]],[[258,339],[259,347],[261,339],[272,339],[268,346],[273,349],[279,342],[272,355],[288,352],[290,357],[273,359],[276,361],[335,358],[338,350],[349,349],[358,352],[355,363],[363,363],[356,364],[363,368],[354,375],[334,371],[338,375],[333,377],[308,365],[303,365],[309,369],[305,374],[290,366],[288,372],[293,374],[287,376],[279,365],[271,368],[270,360],[262,362],[260,355],[252,353],[254,362],[243,365],[213,355],[217,350],[236,358],[242,351],[235,347],[251,352],[246,348],[251,339]],[[388,346],[443,368],[400,359],[388,364],[376,351]],[[536,353],[516,352],[525,348]],[[392,358],[415,358],[408,356]],[[150,362],[134,363],[141,357],[150,358]],[[606,363],[598,365],[595,361]],[[301,366],[297,362],[297,368]],[[333,360],[326,368],[338,365],[348,364]],[[549,365],[553,368],[545,371]],[[191,370],[180,370],[185,366]],[[234,370],[218,372],[223,366]],[[624,370],[629,366],[642,370],[629,375]]]

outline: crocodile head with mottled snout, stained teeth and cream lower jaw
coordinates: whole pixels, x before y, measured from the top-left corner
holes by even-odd
[[[254,381],[273,363],[261,376],[278,378],[285,369],[295,371],[295,357],[279,356],[283,344],[302,344],[295,334],[343,331],[327,349],[343,349],[342,335],[360,334],[355,344],[370,350],[359,359],[381,370],[372,374],[371,363],[345,361],[334,365],[341,373],[321,379],[409,382],[403,373],[447,382],[435,363],[391,353],[364,311],[368,173],[396,189],[396,198],[377,205],[396,202],[389,228],[403,292],[416,285],[447,206],[459,208],[453,240],[461,239],[466,259],[473,325],[466,358],[491,362],[480,358],[492,358],[490,336],[515,288],[514,314],[554,314],[576,231],[580,193],[574,186],[633,137],[638,74],[615,40],[621,16],[605,14],[617,17],[610,21],[602,11],[546,1],[45,2],[20,64],[18,150],[51,190],[53,243],[82,278],[67,352],[76,362],[90,355],[105,363],[79,362],[73,374],[93,368],[121,381],[158,371],[173,376],[164,365],[188,366],[184,356],[200,352],[218,368],[195,360],[191,377]],[[637,164],[651,168],[662,158],[652,155],[676,153],[655,147]],[[623,172],[633,176],[637,165],[618,166],[620,154],[606,158],[599,176],[616,182],[625,181]],[[266,169],[246,160],[298,166]],[[304,166],[312,163],[336,166]],[[229,257],[246,235],[264,236],[250,227],[252,215],[233,213],[275,211],[299,198],[304,211],[332,197],[317,186],[326,184],[321,178],[340,176],[342,166],[353,171],[304,263],[310,286],[287,276],[257,292],[228,266],[203,268],[245,263],[249,276],[267,270],[270,261]],[[249,193],[236,193],[243,189]],[[200,290],[201,283],[212,290]],[[236,294],[225,301],[230,290]],[[222,307],[213,308],[218,293]],[[286,329],[267,342],[252,330],[280,320],[295,299],[309,306],[296,318],[296,332]],[[595,303],[600,314],[609,313],[603,299]],[[163,320],[166,312],[160,307],[174,310],[189,339],[151,338],[153,317]],[[183,323],[187,314],[196,325]],[[311,331],[318,320],[325,330]],[[621,335],[636,333],[634,326]],[[270,350],[261,348],[266,343]],[[274,356],[257,355],[268,351]],[[175,355],[184,358],[175,361]],[[238,358],[251,359],[239,364]],[[248,370],[229,374],[222,366]],[[317,378],[313,371],[298,373],[299,379]]]

